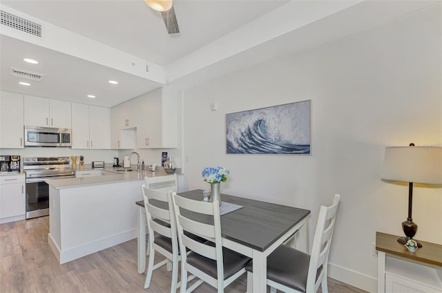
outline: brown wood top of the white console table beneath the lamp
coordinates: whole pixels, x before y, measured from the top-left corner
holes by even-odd
[[[422,263],[442,266],[442,245],[419,240],[422,247],[416,249],[416,252],[409,252],[407,247],[397,242],[398,237],[376,232],[376,250]]]

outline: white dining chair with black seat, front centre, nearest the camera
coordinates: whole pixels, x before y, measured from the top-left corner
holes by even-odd
[[[250,258],[222,247],[220,206],[218,200],[202,202],[172,193],[173,208],[181,250],[181,292],[192,292],[203,282],[224,292],[224,287],[244,274],[244,267]],[[205,238],[200,243],[184,231]],[[191,250],[186,254],[186,248]],[[187,287],[187,273],[197,278]]]

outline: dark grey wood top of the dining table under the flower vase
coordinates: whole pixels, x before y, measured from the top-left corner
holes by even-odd
[[[202,200],[202,189],[180,192],[179,195]],[[221,216],[222,236],[261,252],[310,214],[307,209],[229,196],[224,193],[221,194],[221,200],[242,205],[241,209]],[[142,200],[136,203],[141,207],[144,206]]]

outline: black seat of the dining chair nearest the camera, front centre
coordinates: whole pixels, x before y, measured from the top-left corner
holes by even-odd
[[[251,258],[248,258],[247,256],[238,254],[230,249],[223,247],[222,261],[224,265],[224,279],[226,279],[241,270],[242,267],[244,267],[247,263],[249,263],[249,261],[251,261]],[[202,272],[209,274],[213,278],[218,278],[216,261],[211,258],[206,258],[204,256],[201,256],[200,254],[191,252],[187,256],[187,263],[193,265],[194,267],[197,267],[199,270],[202,270]]]

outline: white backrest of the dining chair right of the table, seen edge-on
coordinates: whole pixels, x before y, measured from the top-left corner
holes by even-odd
[[[339,204],[339,194],[334,195],[331,206],[321,206],[316,224],[316,231],[311,247],[309,273],[307,275],[307,292],[316,292],[323,278],[327,276],[327,263],[330,243],[332,242],[336,211]],[[314,290],[312,290],[314,288]]]

